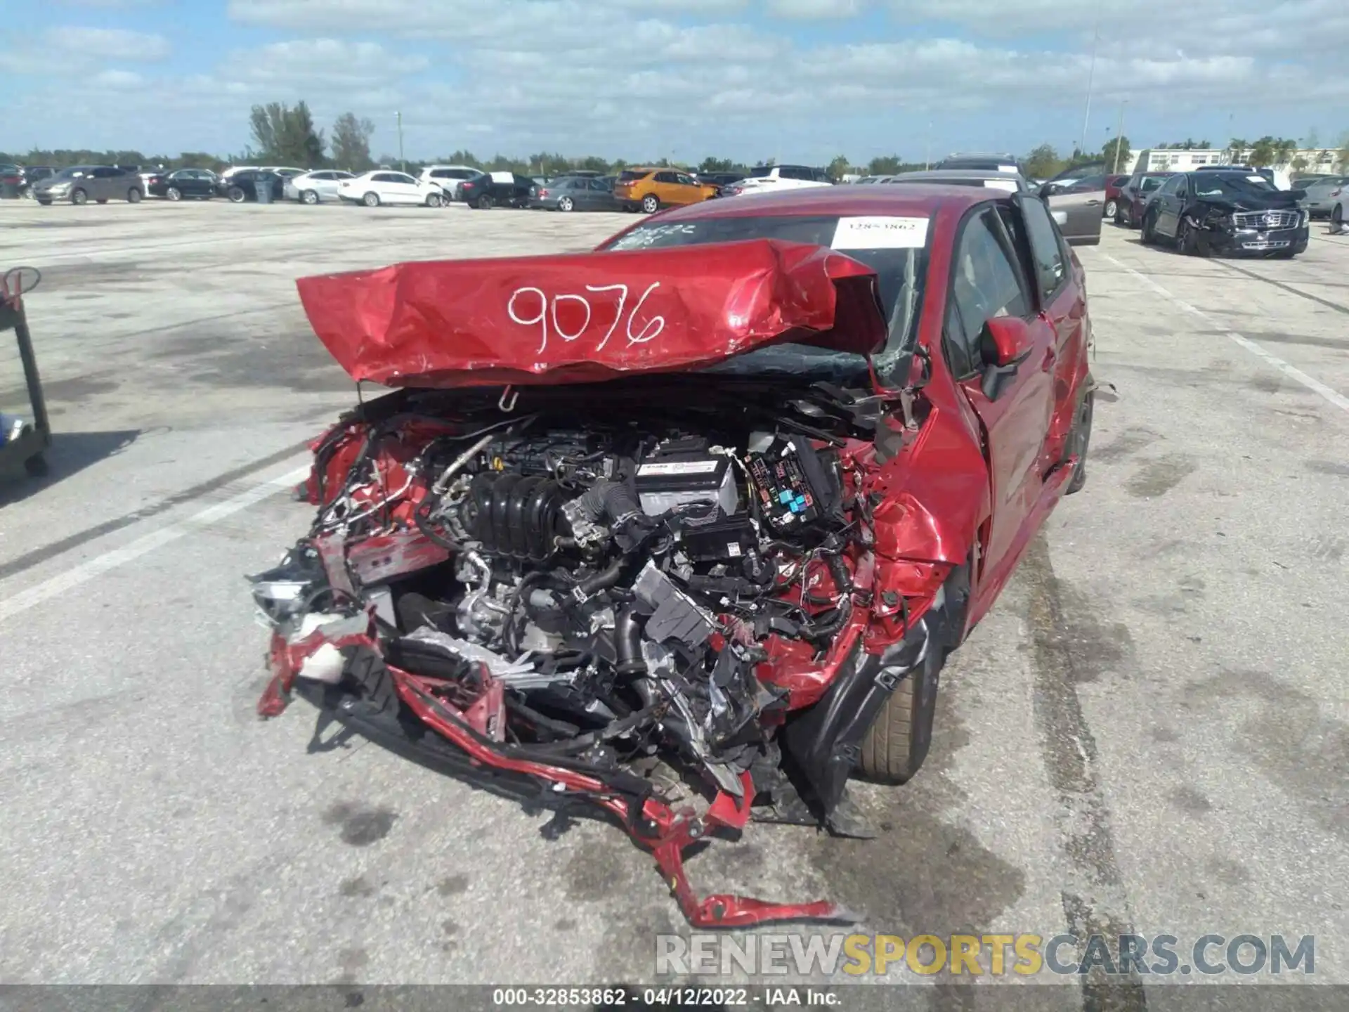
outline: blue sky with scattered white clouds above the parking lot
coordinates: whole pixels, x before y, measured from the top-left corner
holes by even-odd
[[[0,150],[241,151],[255,103],[375,154],[854,162],[1349,131],[1342,0],[46,0],[0,30]],[[1086,117],[1093,36],[1099,39]],[[1178,47],[1182,45],[1183,47]]]

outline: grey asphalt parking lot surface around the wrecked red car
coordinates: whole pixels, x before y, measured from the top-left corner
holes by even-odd
[[[306,528],[282,479],[353,399],[295,277],[630,221],[0,205],[0,264],[43,271],[58,432],[50,478],[0,486],[0,978],[653,980],[653,936],[688,928],[621,831],[549,841],[375,746],[306,750],[304,704],[259,722],[243,579]],[[861,792],[878,839],[751,826],[691,862],[699,889],[904,936],[1311,934],[1317,980],[1349,984],[1349,237],[1325,231],[1294,262],[1110,225],[1079,251],[1117,399],[947,668],[928,765]],[[0,345],[0,410],[20,383]]]

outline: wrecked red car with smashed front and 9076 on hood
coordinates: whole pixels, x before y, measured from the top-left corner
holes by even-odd
[[[598,806],[696,926],[847,919],[699,899],[683,851],[865,834],[849,779],[917,772],[947,654],[1082,486],[1090,320],[1045,205],[822,188],[298,287],[398,389],[316,440],[313,528],[251,578],[259,711]]]

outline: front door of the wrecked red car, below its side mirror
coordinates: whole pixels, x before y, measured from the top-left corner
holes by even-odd
[[[1016,564],[1043,486],[1039,464],[1052,416],[1058,336],[1031,285],[1002,217],[992,202],[981,205],[955,239],[943,347],[983,432],[992,517],[981,578],[993,582],[981,584],[989,587]],[[994,370],[986,358],[986,324],[1002,316],[1024,321],[1028,340],[1020,362]],[[990,385],[996,371],[1004,375]]]

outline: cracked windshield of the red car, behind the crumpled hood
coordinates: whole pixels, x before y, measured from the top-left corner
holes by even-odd
[[[604,250],[660,250],[672,246],[735,243],[750,239],[780,239],[791,243],[834,246],[839,216],[776,215],[718,217],[670,224],[638,225]],[[913,351],[923,285],[927,279],[927,248],[843,250],[839,252],[871,267],[877,274],[881,309],[889,321],[889,340],[876,355],[877,372],[888,376]],[[866,382],[867,364],[862,355],[817,348],[809,344],[776,344],[737,355],[710,366],[706,372],[762,375],[786,372],[813,379]]]

